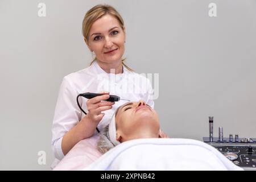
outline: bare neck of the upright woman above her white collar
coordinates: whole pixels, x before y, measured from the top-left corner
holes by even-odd
[[[96,60],[96,61],[98,65],[101,67],[101,69],[103,69],[106,73],[114,73],[114,74],[123,73],[122,61],[118,61],[116,63],[104,63],[99,60]],[[114,69],[114,72],[112,69]]]

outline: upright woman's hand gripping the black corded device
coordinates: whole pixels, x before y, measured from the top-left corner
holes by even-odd
[[[104,95],[91,98],[86,101],[88,113],[86,117],[93,122],[99,123],[104,117],[104,110],[109,110],[115,102],[104,101],[109,98],[109,92],[101,92]]]

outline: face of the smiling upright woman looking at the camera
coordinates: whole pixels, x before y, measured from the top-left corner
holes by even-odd
[[[118,20],[107,14],[93,23],[87,45],[98,61],[115,63],[121,61],[125,52],[125,36]]]

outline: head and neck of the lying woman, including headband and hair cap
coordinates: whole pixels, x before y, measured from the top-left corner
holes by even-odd
[[[160,130],[158,114],[144,101],[128,102],[115,110],[108,126],[100,134],[102,154],[122,142],[141,138],[167,138]]]

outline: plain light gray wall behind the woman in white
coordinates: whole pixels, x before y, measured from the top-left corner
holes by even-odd
[[[39,18],[38,4],[46,3]],[[210,2],[217,17],[208,16]],[[256,137],[256,1],[0,0],[0,169],[48,170],[62,78],[88,67],[81,26],[87,10],[113,5],[127,30],[127,64],[159,73],[155,109],[170,137]],[[47,164],[38,164],[38,151]]]

